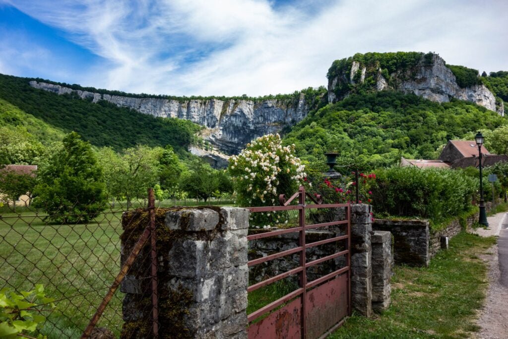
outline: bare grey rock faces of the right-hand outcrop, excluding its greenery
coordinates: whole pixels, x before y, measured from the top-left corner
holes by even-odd
[[[348,79],[340,74],[329,79],[328,98],[329,100],[331,99],[330,102],[347,96],[346,93],[342,98],[337,97],[335,94],[336,87],[339,84],[343,85],[344,81],[355,85],[355,75],[360,69],[362,72],[359,83],[363,83],[365,79],[365,65],[361,65],[358,61],[353,61]],[[395,89],[439,103],[449,102],[451,98],[456,98],[473,102],[491,111],[498,112],[500,115],[504,115],[503,105],[496,107],[496,98],[485,85],[481,84],[461,88],[457,84],[455,75],[437,54],[432,55],[431,63],[425,60],[424,55],[422,55],[422,59],[416,67],[390,74],[390,81],[382,75],[380,69],[377,69],[375,83],[376,85],[372,90]]]

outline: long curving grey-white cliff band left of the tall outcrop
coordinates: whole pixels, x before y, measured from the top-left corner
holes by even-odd
[[[238,153],[248,142],[268,133],[277,133],[307,116],[309,107],[303,94],[297,102],[285,104],[278,100],[169,100],[163,98],[132,98],[74,90],[60,85],[30,81],[30,86],[53,93],[76,93],[93,103],[105,100],[144,114],[180,118],[204,126],[207,139],[227,153]]]

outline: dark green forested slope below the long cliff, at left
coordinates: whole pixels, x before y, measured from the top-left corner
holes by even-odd
[[[76,95],[58,96],[31,87],[29,80],[0,75],[0,99],[55,129],[75,131],[92,145],[116,150],[172,145],[182,153],[201,129],[187,120],[153,117],[107,102],[92,104]]]

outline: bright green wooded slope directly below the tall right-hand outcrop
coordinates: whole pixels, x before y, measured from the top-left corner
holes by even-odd
[[[323,153],[337,151],[343,162],[355,159],[365,168],[375,168],[396,164],[401,156],[436,159],[448,140],[507,123],[506,118],[472,103],[439,104],[382,91],[352,95],[309,114],[285,135],[284,142],[294,143],[298,156],[309,162],[324,162]]]

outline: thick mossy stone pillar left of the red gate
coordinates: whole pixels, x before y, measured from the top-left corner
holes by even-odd
[[[248,215],[234,207],[156,209],[160,338],[247,338]],[[122,218],[122,262],[136,218],[143,213]],[[137,224],[142,232],[146,223]],[[145,247],[122,283],[122,338],[151,337]]]

